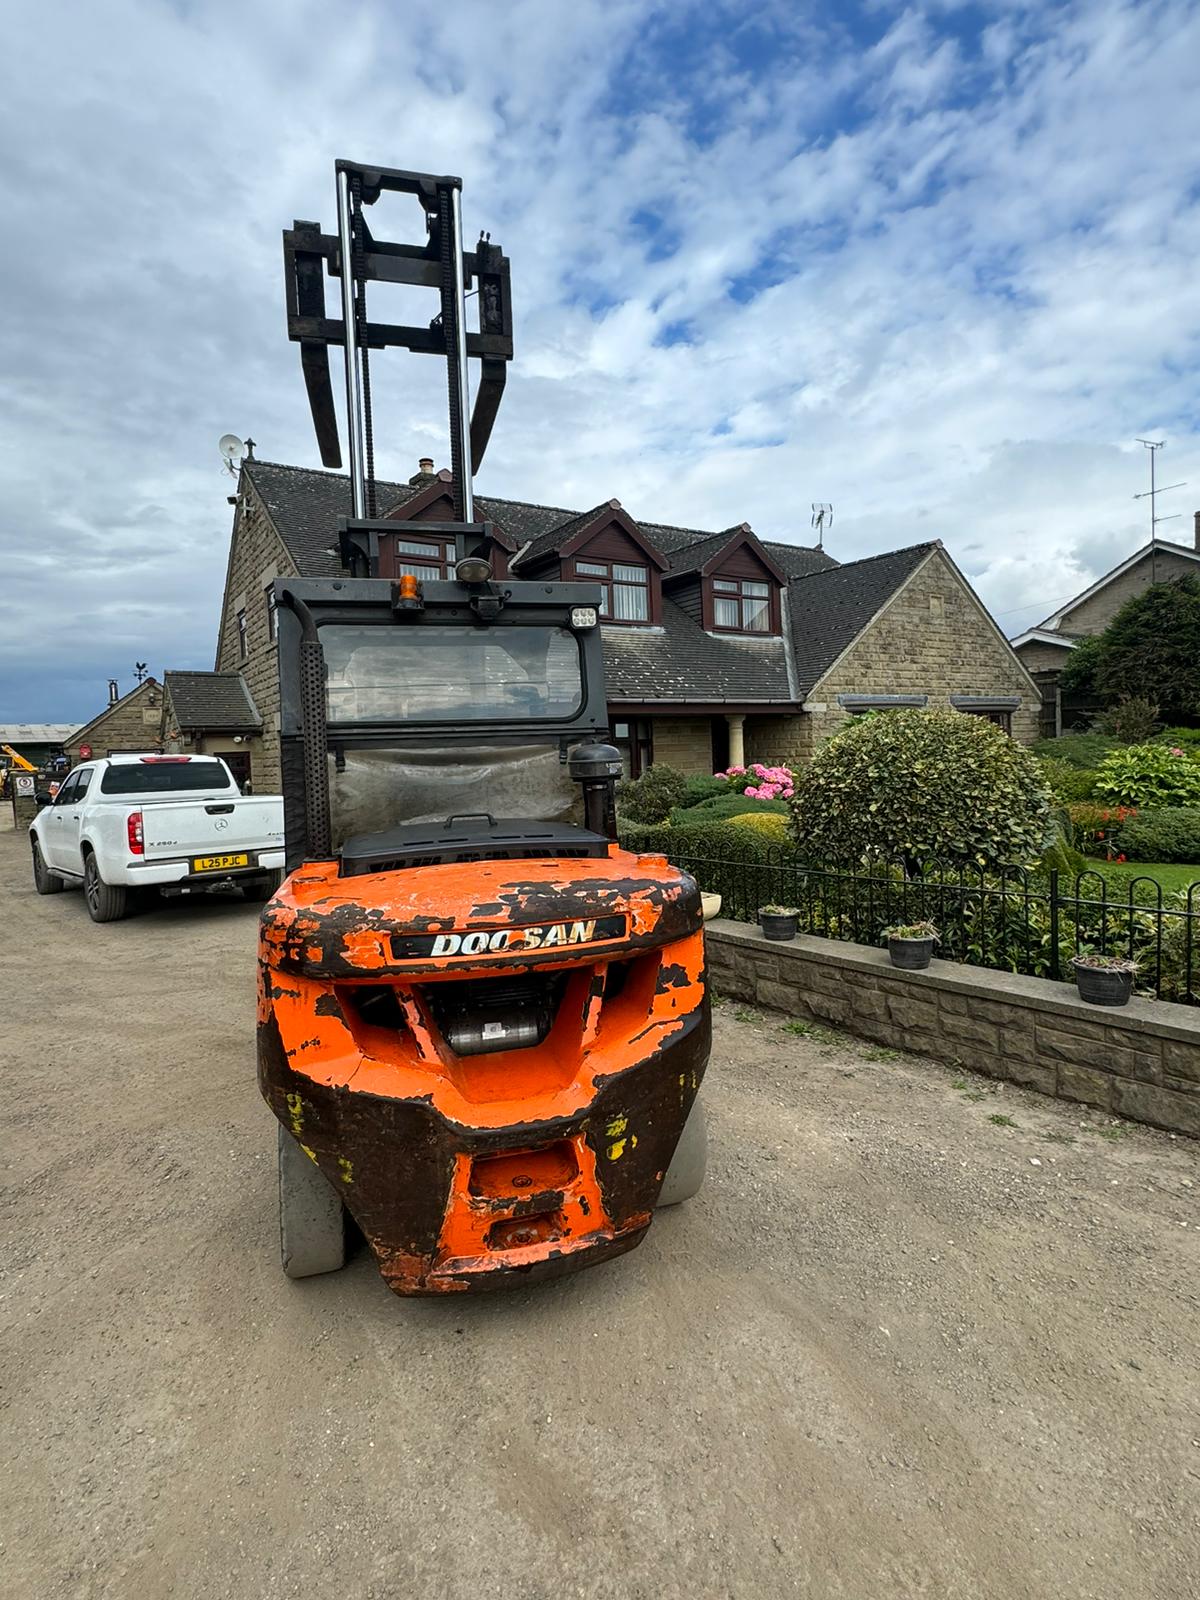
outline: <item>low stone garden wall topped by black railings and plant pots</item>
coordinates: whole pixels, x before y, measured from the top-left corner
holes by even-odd
[[[1200,1138],[1200,1008],[1093,1006],[1074,984],[957,962],[904,973],[886,950],[771,944],[749,923],[717,920],[706,934],[720,995]]]

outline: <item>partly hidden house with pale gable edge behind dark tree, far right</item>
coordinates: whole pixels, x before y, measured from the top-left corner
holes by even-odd
[[[1192,525],[1190,546],[1152,539],[1128,560],[1098,578],[1090,589],[1061,605],[1043,622],[1013,638],[1013,650],[1038,683],[1046,734],[1062,733],[1062,728],[1070,726],[1078,715],[1094,709],[1072,701],[1059,685],[1062,667],[1078,640],[1102,634],[1125,602],[1150,584],[1200,576],[1200,510],[1195,512]]]

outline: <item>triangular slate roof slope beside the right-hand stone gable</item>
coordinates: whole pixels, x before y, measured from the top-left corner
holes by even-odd
[[[800,698],[834,666],[877,611],[917,571],[938,541],[845,562],[787,586],[787,611]]]

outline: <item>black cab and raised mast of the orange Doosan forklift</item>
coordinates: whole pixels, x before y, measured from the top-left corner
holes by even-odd
[[[464,251],[458,178],[339,160],[336,189],[336,234],[301,221],[283,234],[288,336],[301,347],[322,459],[334,467],[328,352],[342,350],[350,483],[349,515],[330,530],[346,578],[275,584],[288,870],[397,824],[474,814],[478,834],[493,808],[549,824],[582,810],[614,838],[619,757],[597,744],[608,733],[600,590],[498,581],[491,525],[475,517],[472,474],[512,358],[507,258],[490,238]],[[365,208],[382,195],[418,202],[422,243],[371,234]],[[341,286],[341,317],[326,317],[326,272]],[[437,314],[427,326],[373,322],[371,282],[432,290]],[[472,285],[478,331],[467,330]],[[454,522],[378,515],[370,352],[389,346],[446,363]],[[381,578],[381,549],[427,541],[434,528],[454,541],[453,578]],[[475,842],[499,848],[496,837]]]

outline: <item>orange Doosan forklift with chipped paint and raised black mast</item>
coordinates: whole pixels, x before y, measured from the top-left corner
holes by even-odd
[[[283,1270],[341,1267],[349,1214],[398,1294],[530,1283],[634,1248],[702,1181],[699,891],[616,843],[598,589],[509,578],[475,520],[507,259],[462,250],[458,178],[338,162],[336,181],[336,235],[285,234],[288,330],[334,467],[344,350],[350,470],[341,574],[275,582],[290,875],[262,912],[258,1072]],[[422,243],[373,238],[363,208],[386,194],[421,205]],[[440,312],[371,322],[370,282],[434,288]],[[438,576],[405,552],[429,523],[376,515],[368,352],[389,344],[446,360]]]

